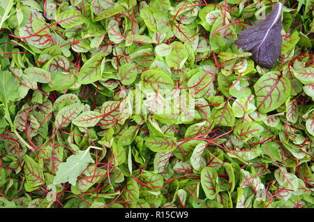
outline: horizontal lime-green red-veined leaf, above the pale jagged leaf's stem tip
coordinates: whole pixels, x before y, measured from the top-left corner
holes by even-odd
[[[82,112],[78,117],[73,119],[72,123],[75,126],[92,127],[95,126],[101,118],[102,115],[100,114],[100,112],[86,111]]]

